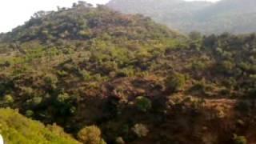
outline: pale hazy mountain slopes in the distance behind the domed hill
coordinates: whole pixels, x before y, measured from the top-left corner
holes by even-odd
[[[203,34],[245,34],[256,31],[256,2],[253,0],[222,0],[216,3],[111,0],[107,6],[128,14],[145,14],[184,33],[193,30]]]

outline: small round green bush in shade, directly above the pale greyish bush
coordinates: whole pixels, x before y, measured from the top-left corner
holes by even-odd
[[[141,110],[143,112],[146,112],[147,110],[150,110],[152,107],[152,103],[149,98],[145,98],[142,96],[139,96],[135,100],[136,106],[138,110]]]

